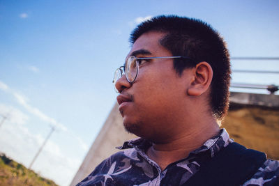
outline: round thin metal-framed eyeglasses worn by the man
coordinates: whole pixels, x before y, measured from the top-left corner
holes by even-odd
[[[133,84],[135,82],[135,79],[137,78],[137,75],[139,74],[139,68],[140,68],[140,61],[142,60],[149,60],[149,59],[190,59],[186,56],[165,56],[165,57],[147,57],[147,58],[137,58],[135,56],[130,56],[125,61],[125,66],[121,66],[116,69],[114,72],[114,79],[112,80],[112,83],[114,84],[114,88],[116,93],[119,93],[118,90],[115,87],[115,84],[118,79],[120,79],[123,75],[126,76],[127,81],[130,84]]]

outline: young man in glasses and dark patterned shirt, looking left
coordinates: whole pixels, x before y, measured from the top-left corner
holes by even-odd
[[[78,185],[276,185],[279,162],[229,139],[225,42],[208,24],[159,16],[143,22],[114,85],[123,125],[139,139]]]

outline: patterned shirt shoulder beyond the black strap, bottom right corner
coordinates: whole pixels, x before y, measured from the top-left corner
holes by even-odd
[[[266,160],[246,185],[277,185],[279,184],[279,161]]]

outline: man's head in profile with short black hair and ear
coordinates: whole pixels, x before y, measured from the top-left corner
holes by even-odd
[[[229,54],[210,26],[186,17],[159,16],[137,26],[130,42],[127,58],[187,56],[190,60],[141,61],[133,84],[125,77],[117,80],[115,86],[121,93],[117,100],[126,130],[156,141],[156,137],[167,139],[187,130],[193,123],[169,124],[190,118],[202,106],[208,106],[216,119],[223,118],[228,107]],[[206,102],[200,101],[204,97]]]

